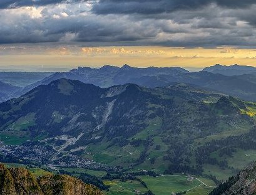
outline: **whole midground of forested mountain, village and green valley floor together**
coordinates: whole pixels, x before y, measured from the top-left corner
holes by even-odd
[[[108,194],[203,194],[256,159],[255,110],[183,83],[100,88],[62,78],[0,104],[0,160]]]

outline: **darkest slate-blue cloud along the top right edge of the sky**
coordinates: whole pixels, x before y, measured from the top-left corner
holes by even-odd
[[[255,0],[100,0],[93,11],[96,14],[161,14],[177,10],[200,9],[209,4],[231,9],[256,4]]]

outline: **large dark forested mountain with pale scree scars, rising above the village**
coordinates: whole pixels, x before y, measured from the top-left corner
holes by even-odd
[[[212,153],[253,142],[255,107],[182,83],[100,88],[62,78],[0,104],[1,140],[21,145],[4,146],[2,159],[202,174],[208,163],[228,168]]]

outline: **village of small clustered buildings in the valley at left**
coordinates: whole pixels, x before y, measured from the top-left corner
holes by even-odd
[[[76,155],[68,154],[63,158],[53,159],[56,151],[49,146],[41,145],[2,145],[0,146],[0,159],[7,162],[18,162],[23,164],[36,164],[38,166],[48,166],[51,168],[88,168],[96,170],[120,171],[120,168],[106,166],[96,163],[87,158],[81,158]]]

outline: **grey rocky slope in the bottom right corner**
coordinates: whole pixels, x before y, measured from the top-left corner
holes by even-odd
[[[256,163],[251,164],[237,176],[232,176],[210,195],[253,195],[256,194]]]

